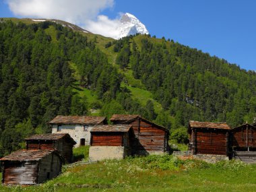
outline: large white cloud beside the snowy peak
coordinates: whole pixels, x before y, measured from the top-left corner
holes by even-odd
[[[119,13],[111,20],[100,11],[113,7],[115,0],[6,0],[9,9],[27,18],[58,19],[77,24],[95,34],[118,38]]]

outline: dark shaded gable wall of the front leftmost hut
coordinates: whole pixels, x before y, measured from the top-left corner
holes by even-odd
[[[61,158],[55,153],[42,158],[38,168],[38,183],[57,177],[61,172],[61,166]]]

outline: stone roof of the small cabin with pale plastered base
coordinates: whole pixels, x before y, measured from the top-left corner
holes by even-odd
[[[128,132],[131,125],[95,125],[91,132]]]

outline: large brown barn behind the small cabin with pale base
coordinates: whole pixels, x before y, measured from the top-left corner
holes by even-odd
[[[114,124],[131,125],[135,133],[132,141],[133,154],[162,154],[169,152],[169,130],[143,119],[139,115],[113,115]]]

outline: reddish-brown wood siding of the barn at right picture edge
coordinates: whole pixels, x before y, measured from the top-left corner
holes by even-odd
[[[243,125],[230,131],[230,147],[234,150],[256,148],[256,127]]]

